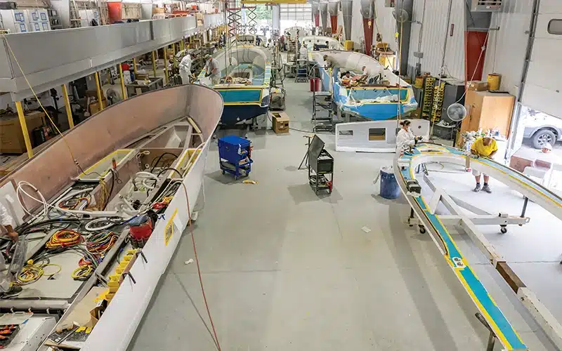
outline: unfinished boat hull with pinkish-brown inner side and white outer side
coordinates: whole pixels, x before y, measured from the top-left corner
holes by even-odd
[[[221,119],[222,112],[221,95],[200,85],[174,86],[143,93],[86,119],[67,131],[64,140],[60,137],[51,140],[48,147],[0,180],[3,191],[26,181],[37,187],[46,199],[55,199],[74,183],[75,178],[85,176],[84,173],[79,174],[75,161],[88,173],[89,168],[103,164],[107,155],[124,151],[129,155],[128,166],[140,164],[143,167],[144,164],[150,164],[150,161],[144,161],[143,157],[147,157],[149,153],[153,155],[162,150],[169,150],[170,145],[175,143],[174,150],[180,157],[176,158],[174,167],[185,169],[185,172],[182,171],[179,177],[170,173],[169,178],[166,177],[164,181],[176,182],[178,191],[155,221],[152,234],[142,251],[137,251],[137,257],[143,258],[131,260],[132,265],[128,269],[134,279],[122,280],[118,290],[112,294],[105,312],[85,343],[81,345],[82,351],[108,350],[107,345],[111,345],[111,350],[121,351],[126,350],[129,345],[181,234],[188,225],[190,212],[193,212],[202,187],[211,135]],[[195,140],[193,135],[197,136],[196,146],[191,142]],[[72,150],[72,156],[69,149]],[[187,159],[189,161],[185,163]],[[119,168],[119,164],[119,177],[126,180],[128,169]],[[104,174],[103,171],[99,172]],[[165,175],[164,172],[162,174]],[[27,208],[38,207],[37,203],[27,197],[22,200]],[[120,238],[124,240],[126,234],[125,228]],[[115,251],[118,249],[116,246]],[[142,255],[139,252],[142,252]],[[110,253],[107,253],[107,257]],[[116,263],[110,263],[105,272],[112,272],[112,264]],[[0,302],[0,307],[6,310],[27,310],[32,306],[34,310],[48,311],[51,308],[51,311],[64,311],[58,322],[61,324],[65,316],[70,315],[74,307],[87,298],[86,293],[89,289],[98,285],[96,279],[97,277],[92,275],[76,292],[70,291],[72,299],[69,300],[44,300],[41,296],[27,300],[4,299]],[[43,284],[45,282],[46,279]],[[27,286],[24,286],[23,293],[26,288]],[[27,291],[41,293],[40,289],[33,289],[33,285],[30,285]]]

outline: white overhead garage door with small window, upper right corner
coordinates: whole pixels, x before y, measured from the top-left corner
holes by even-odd
[[[562,118],[562,1],[542,0],[522,104]]]

